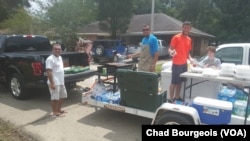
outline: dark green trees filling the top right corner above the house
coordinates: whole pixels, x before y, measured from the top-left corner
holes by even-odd
[[[249,0],[172,0],[166,13],[216,36],[219,42],[249,42]]]

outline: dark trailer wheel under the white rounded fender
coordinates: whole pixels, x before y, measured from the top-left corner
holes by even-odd
[[[194,122],[190,116],[169,112],[162,115],[155,124],[163,125],[193,125]]]

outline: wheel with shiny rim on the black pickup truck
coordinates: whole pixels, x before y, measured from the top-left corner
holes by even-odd
[[[9,89],[10,89],[12,96],[16,99],[23,99],[27,97],[27,93],[25,93],[22,79],[16,73],[10,76]]]

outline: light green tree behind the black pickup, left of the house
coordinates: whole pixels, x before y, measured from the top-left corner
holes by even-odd
[[[45,17],[50,30],[54,31],[54,38],[60,38],[70,47],[75,45],[78,27],[95,20],[96,6],[90,0],[61,0],[48,9]]]

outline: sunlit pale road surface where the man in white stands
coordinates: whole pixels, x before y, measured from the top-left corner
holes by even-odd
[[[96,77],[78,85],[90,87]],[[63,105],[67,113],[65,117],[54,118],[48,91],[31,91],[34,93],[31,99],[16,100],[0,85],[0,118],[38,141],[140,141],[141,125],[150,124],[152,120],[83,105],[80,89],[68,89],[68,98]]]

